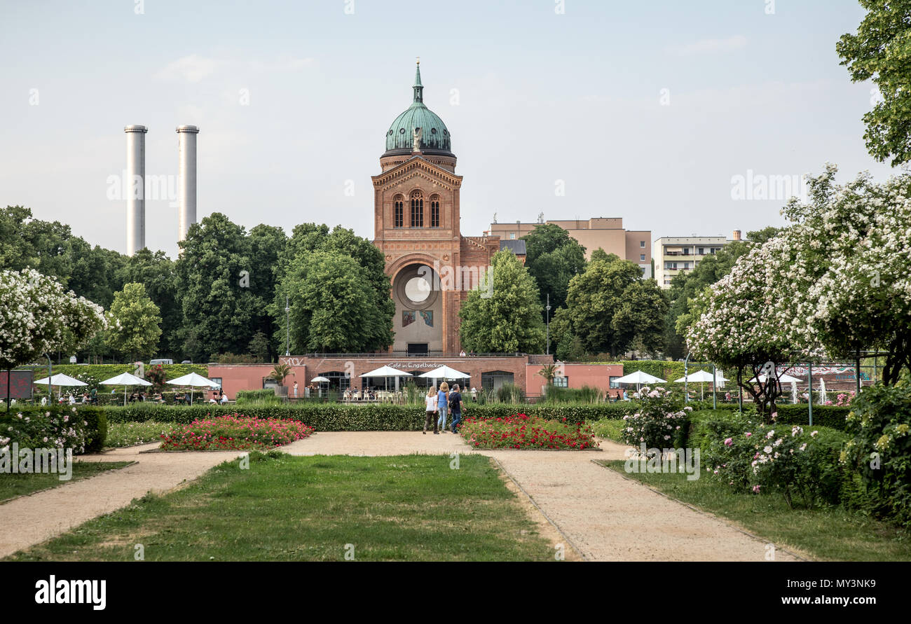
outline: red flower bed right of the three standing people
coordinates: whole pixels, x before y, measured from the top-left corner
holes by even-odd
[[[595,435],[589,425],[545,420],[540,416],[515,414],[496,418],[466,418],[459,425],[461,434],[475,448],[548,448],[581,451],[595,448]]]

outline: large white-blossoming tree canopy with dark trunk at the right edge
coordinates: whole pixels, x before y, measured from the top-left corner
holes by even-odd
[[[837,186],[835,171],[809,178],[809,200],[783,209],[793,225],[695,302],[691,353],[731,368],[766,420],[781,388],[747,381],[766,362],[879,348],[887,384],[911,370],[911,175],[876,185],[863,174]]]

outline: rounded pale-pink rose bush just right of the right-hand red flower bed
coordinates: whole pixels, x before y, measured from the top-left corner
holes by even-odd
[[[645,386],[640,391],[640,410],[623,416],[623,442],[646,448],[670,448],[685,439],[687,406],[680,409],[670,391]]]

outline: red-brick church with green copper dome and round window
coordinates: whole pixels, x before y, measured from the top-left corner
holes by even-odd
[[[411,106],[386,132],[382,172],[372,177],[374,245],[392,282],[393,351],[459,353],[459,309],[501,243],[462,236],[462,176],[449,128],[424,104],[420,61],[412,88]],[[524,246],[510,249],[524,260]]]

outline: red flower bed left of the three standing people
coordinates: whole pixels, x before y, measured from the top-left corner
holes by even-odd
[[[265,450],[312,435],[313,427],[293,420],[256,418],[241,414],[216,416],[179,425],[161,435],[169,451]]]

